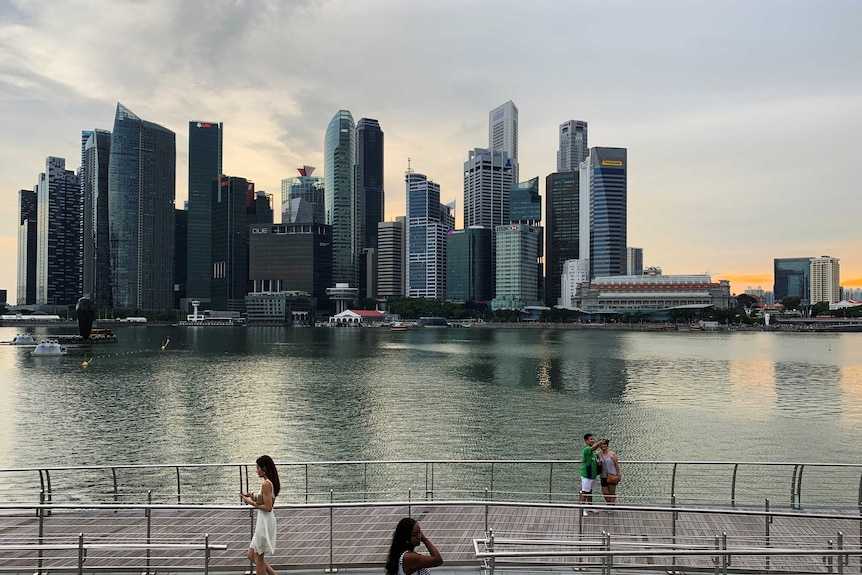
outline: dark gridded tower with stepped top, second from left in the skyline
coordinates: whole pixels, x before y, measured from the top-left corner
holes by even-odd
[[[36,304],[74,304],[81,297],[84,202],[75,172],[48,157],[36,191]]]

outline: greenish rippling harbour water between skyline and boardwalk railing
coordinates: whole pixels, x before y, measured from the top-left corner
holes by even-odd
[[[0,467],[570,459],[587,431],[623,460],[862,461],[860,334],[115,332],[86,368],[0,347]]]

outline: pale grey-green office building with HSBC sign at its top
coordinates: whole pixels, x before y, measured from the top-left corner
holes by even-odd
[[[529,224],[497,226],[496,287],[492,309],[524,309],[539,301],[542,228]]]

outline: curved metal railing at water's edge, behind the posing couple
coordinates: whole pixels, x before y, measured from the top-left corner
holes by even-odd
[[[284,503],[393,500],[572,502],[575,460],[277,462]],[[862,512],[862,464],[622,461],[620,503],[717,504]],[[0,469],[0,502],[217,503],[257,486],[254,463]],[[598,491],[598,490],[597,490]]]

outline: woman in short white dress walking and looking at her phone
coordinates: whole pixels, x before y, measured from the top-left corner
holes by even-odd
[[[257,575],[276,575],[272,566],[266,562],[266,556],[275,553],[275,513],[272,512],[275,498],[281,490],[278,471],[269,455],[257,458],[257,475],[263,478],[260,492],[243,493],[242,500],[257,508],[257,523],[254,526],[254,536],[248,546],[248,560],[253,562]]]

